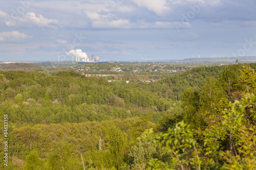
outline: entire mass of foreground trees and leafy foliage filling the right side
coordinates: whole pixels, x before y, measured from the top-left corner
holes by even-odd
[[[255,169],[255,90],[254,69],[240,64],[224,67],[200,89],[187,89],[182,121],[165,133],[151,129],[141,137],[173,154],[170,161],[151,159],[148,168]]]

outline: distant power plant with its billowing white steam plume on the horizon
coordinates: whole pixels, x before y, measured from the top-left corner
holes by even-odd
[[[76,50],[70,50],[69,52],[66,53],[68,56],[72,56],[74,59],[74,56],[76,56],[76,62],[99,62],[99,57],[98,56],[93,56],[92,55],[92,60],[90,61],[87,54],[82,52],[81,49],[76,49]],[[80,61],[80,59],[82,59]]]

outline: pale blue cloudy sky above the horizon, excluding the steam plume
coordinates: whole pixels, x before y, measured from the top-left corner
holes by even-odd
[[[0,61],[256,56],[255,0],[0,1]]]

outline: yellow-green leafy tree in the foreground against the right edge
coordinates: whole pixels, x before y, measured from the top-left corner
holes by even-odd
[[[213,130],[205,131],[204,145],[210,158],[207,160],[208,167],[256,168],[256,126],[247,120],[248,110],[254,110],[255,106],[256,96],[248,93],[241,101],[230,102],[223,111],[224,120]],[[222,141],[227,145],[223,145]]]

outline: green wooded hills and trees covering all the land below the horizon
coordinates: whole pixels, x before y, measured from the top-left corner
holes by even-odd
[[[109,82],[68,67],[8,65],[0,169],[256,169],[256,63],[162,71],[157,82],[140,81],[151,76],[145,70]]]

